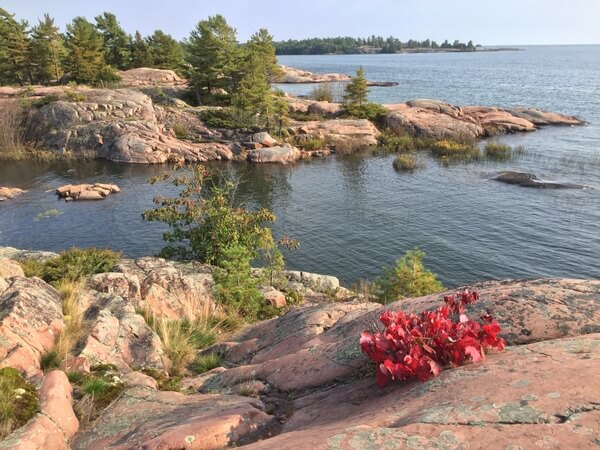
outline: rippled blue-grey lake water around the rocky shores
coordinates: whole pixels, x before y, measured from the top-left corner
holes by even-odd
[[[600,278],[600,46],[528,47],[522,52],[363,56],[286,56],[283,64],[318,72],[398,81],[372,88],[375,101],[438,98],[467,105],[535,106],[577,115],[584,127],[546,128],[499,140],[523,145],[511,162],[444,167],[419,154],[425,170],[396,173],[393,156],[349,156],[293,166],[218,164],[245,180],[253,205],[278,216],[275,232],[301,241],[288,266],[372,279],[419,246],[445,284],[529,277]],[[306,93],[310,85],[286,86]],[[159,193],[145,180],[164,167],[91,162],[4,164],[0,185],[29,189],[0,204],[0,246],[61,250],[101,246],[128,256],[156,253],[160,224],[141,213]],[[500,170],[585,184],[587,190],[537,190],[490,181]],[[66,183],[114,182],[123,188],[97,203],[63,203],[45,193]],[[163,189],[163,190],[161,190]],[[50,209],[58,215],[38,216]]]

